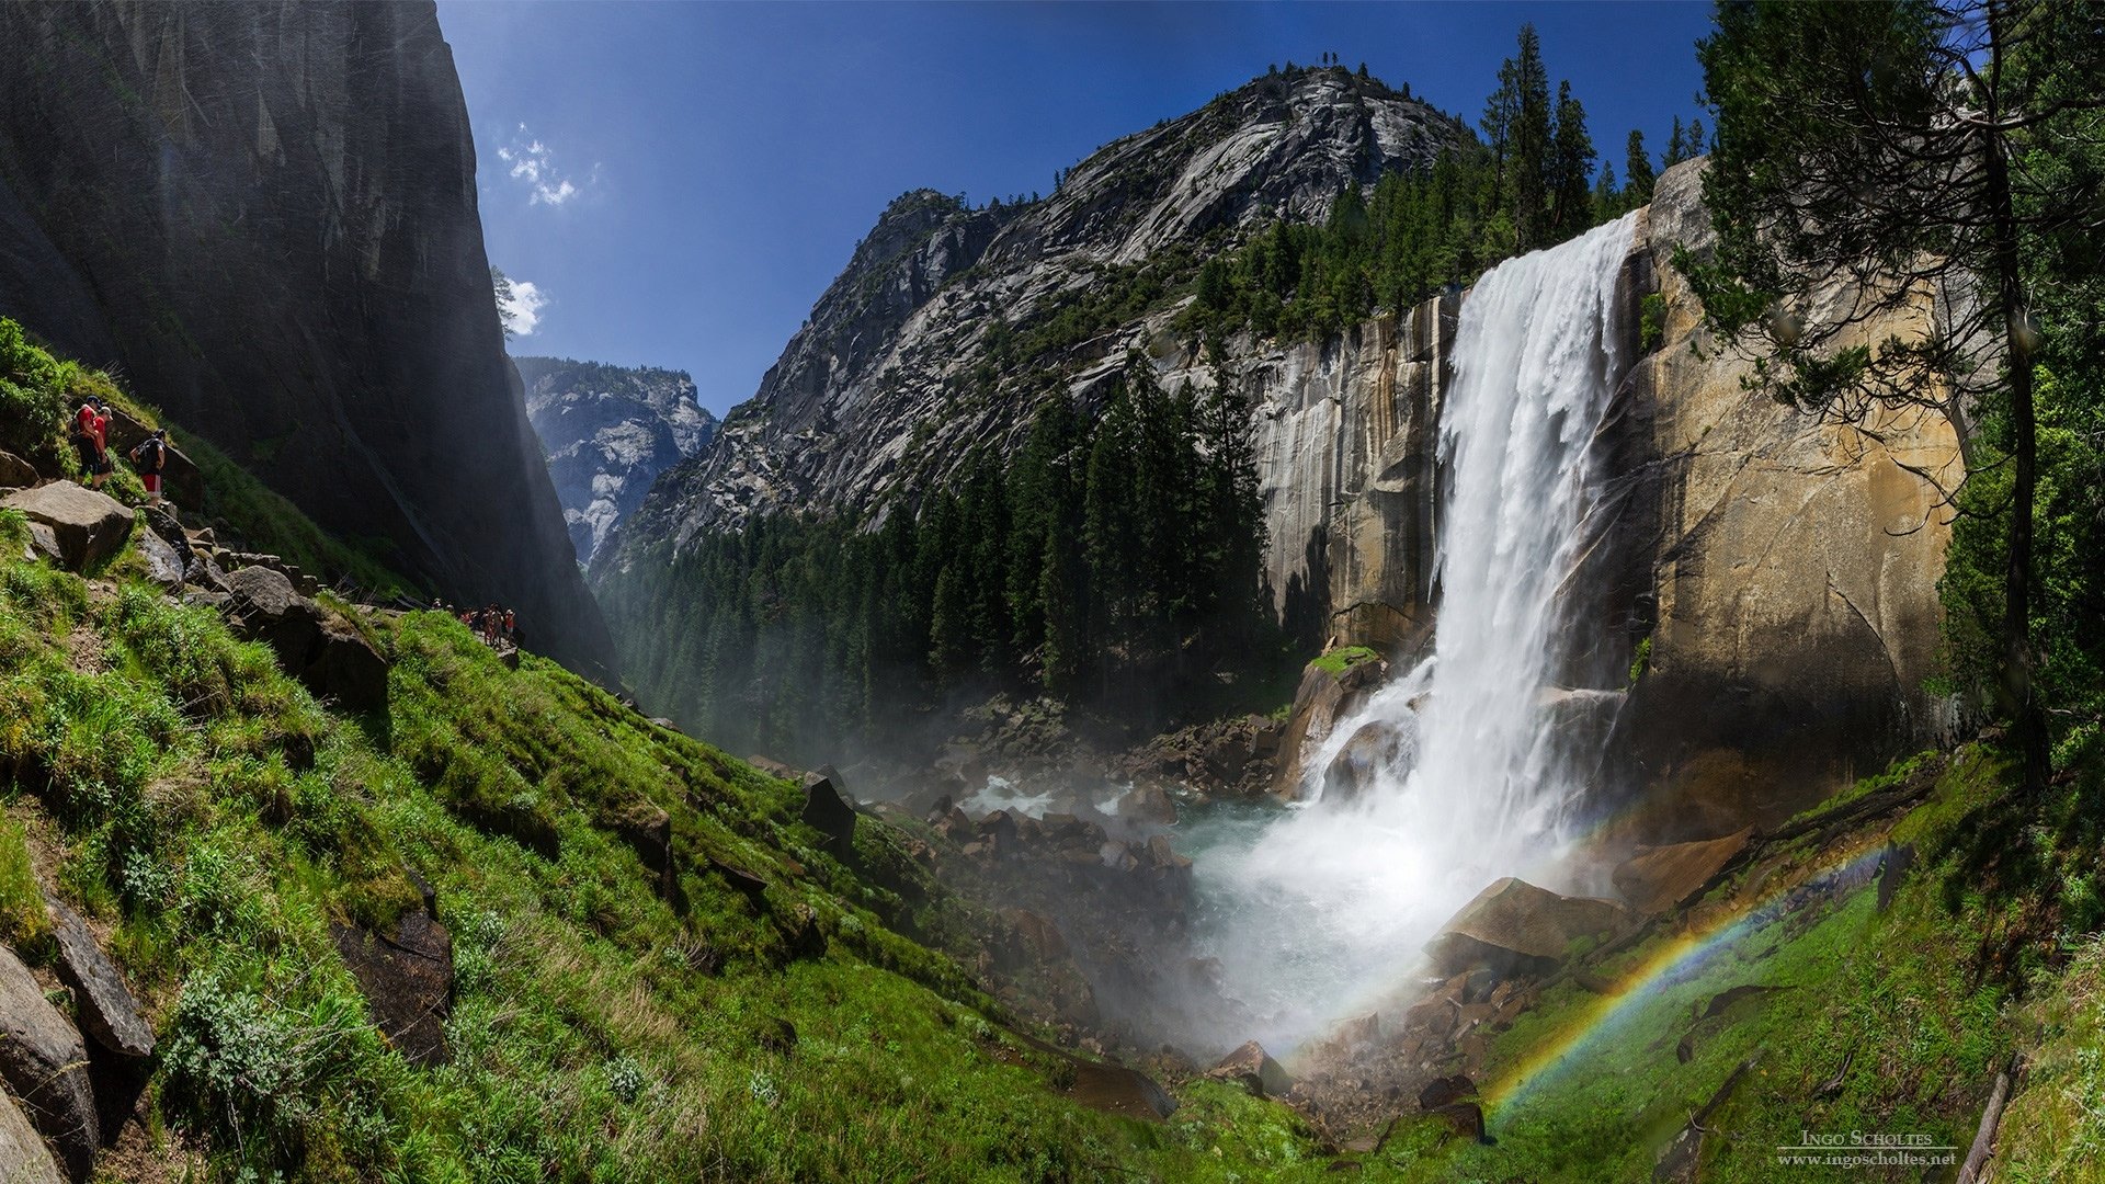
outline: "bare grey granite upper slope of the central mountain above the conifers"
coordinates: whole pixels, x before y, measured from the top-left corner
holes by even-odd
[[[1320,217],[1345,185],[1429,164],[1469,131],[1345,70],[1259,78],[1120,139],[1040,202],[968,211],[901,196],[716,445],[663,478],[625,539],[735,527],[787,506],[876,506],[981,440],[1013,442],[1052,390],[1088,400],[1128,346],[1166,348],[1172,308],[1036,358],[1017,398],[1006,348],[1107,284],[1162,278],[1276,215]],[[617,548],[619,552],[619,548]]]

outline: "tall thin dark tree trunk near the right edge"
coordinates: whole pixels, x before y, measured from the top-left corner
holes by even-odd
[[[1996,55],[1993,76],[2002,74],[2000,6],[1989,6],[1989,46]],[[1989,88],[1989,126],[1998,110],[1996,88]],[[2031,501],[2038,489],[2038,440],[2031,407],[2031,350],[2025,305],[2025,278],[2017,257],[2017,209],[2010,200],[2010,171],[2004,160],[2002,133],[1987,133],[1987,202],[1996,228],[1996,291],[2002,303],[2004,348],[2010,373],[2010,550],[2002,577],[2002,693],[2012,721],[2023,761],[2025,794],[2046,790],[2050,754],[2046,746],[2046,712],[2031,687]]]

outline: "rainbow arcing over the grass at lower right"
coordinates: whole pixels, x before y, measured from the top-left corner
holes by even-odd
[[[1680,971],[1701,967],[1720,952],[1730,950],[1747,933],[1777,921],[1783,910],[1785,895],[1789,895],[1796,887],[1819,876],[1850,876],[1855,872],[1865,872],[1876,866],[1882,855],[1884,845],[1871,845],[1865,851],[1836,860],[1810,876],[1793,879],[1787,887],[1770,889],[1768,893],[1722,912],[1709,923],[1695,927],[1671,942],[1665,942],[1657,952],[1625,971],[1606,994],[1583,1007],[1556,1034],[1541,1041],[1528,1051],[1528,1055],[1505,1070],[1499,1081],[1484,1091],[1486,1114],[1524,1100],[1530,1089],[1556,1079],[1558,1070],[1577,1062],[1591,1043],[1615,1032],[1623,1020],[1636,1013],[1640,1003],[1663,990],[1663,986],[1673,982]]]

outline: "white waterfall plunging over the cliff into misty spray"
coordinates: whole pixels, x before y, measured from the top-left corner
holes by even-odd
[[[1499,876],[1541,876],[1581,777],[1543,691],[1568,653],[1560,586],[1598,499],[1593,434],[1629,358],[1617,274],[1633,215],[1501,263],[1461,308],[1440,409],[1434,655],[1341,721],[1322,771],[1375,723],[1389,744],[1351,801],[1194,834],[1202,952],[1284,1049],[1406,986],[1436,927]],[[1229,1039],[1234,1037],[1234,1039]]]

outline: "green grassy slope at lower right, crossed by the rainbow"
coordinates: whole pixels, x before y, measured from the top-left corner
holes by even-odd
[[[1831,868],[1859,874],[1827,897],[1768,910],[1760,902],[1772,897],[1743,874],[1686,927],[1591,965],[1617,984],[1608,994],[1575,982],[1551,988],[1492,1045],[1484,1085],[1497,1098],[1488,1106],[1497,1146],[1436,1144],[1429,1131],[1406,1129],[1366,1176],[1642,1180],[1690,1114],[1718,1098],[1705,1119],[1718,1133],[1705,1142],[1703,1180],[1920,1178],[1920,1167],[1897,1176],[1779,1167],[1777,1148],[1804,1131],[1972,1140],[2014,1043],[2004,1022],[2010,986],[1974,973],[1989,906],[1962,895],[1953,908],[1947,887],[1964,874],[1953,843],[1962,820],[2000,794],[2002,780],[1996,761],[1960,761],[1894,828],[1894,843],[1911,841],[1928,857],[1884,912],[1869,876],[1880,845],[1793,849],[1764,883],[1796,885]],[[1726,996],[1745,986],[1764,990]],[[1720,1013],[1705,1018],[1713,1003]]]

